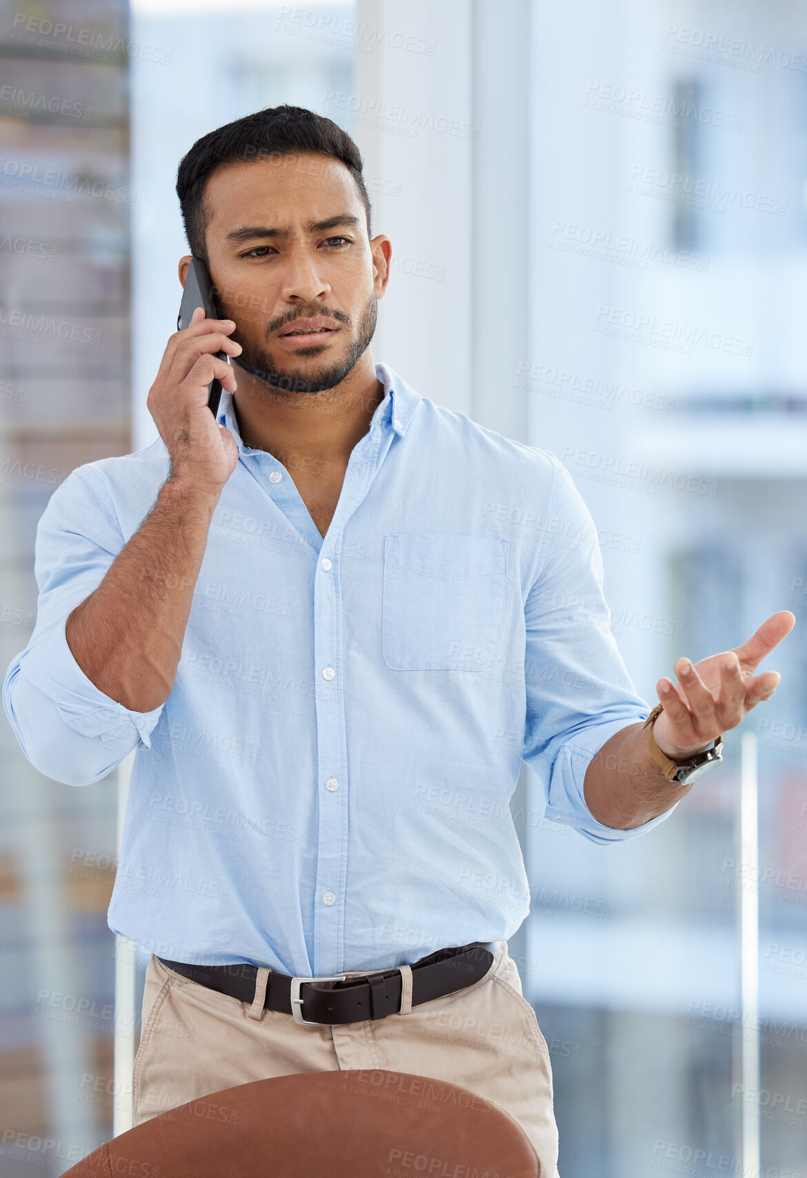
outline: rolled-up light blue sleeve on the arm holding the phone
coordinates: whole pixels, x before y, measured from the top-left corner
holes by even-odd
[[[150,747],[164,704],[132,712],[87,679],[67,644],[72,610],[93,593],[124,545],[104,476],[74,470],[37,529],[37,624],[11,663],[2,702],[26,759],[66,785],[91,785],[133,748]]]

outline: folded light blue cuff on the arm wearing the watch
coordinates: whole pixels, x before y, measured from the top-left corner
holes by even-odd
[[[586,805],[583,782],[586,770],[595,755],[616,733],[640,721],[643,722],[649,715],[650,709],[648,708],[643,715],[633,719],[611,720],[607,724],[587,728],[563,744],[550,775],[545,818],[562,826],[574,827],[591,842],[623,842],[626,839],[635,839],[636,835],[651,830],[654,826],[659,826],[660,822],[669,818],[679,805],[677,801],[662,814],[650,819],[649,822],[621,830],[598,822]]]

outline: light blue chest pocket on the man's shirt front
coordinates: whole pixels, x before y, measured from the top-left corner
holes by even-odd
[[[408,532],[384,537],[383,644],[392,670],[483,670],[496,651],[507,541]]]

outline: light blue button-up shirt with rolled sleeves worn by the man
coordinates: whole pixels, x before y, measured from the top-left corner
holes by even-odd
[[[530,906],[509,800],[596,842],[586,769],[644,720],[591,516],[548,450],[377,365],[384,399],[325,537],[289,465],[244,445],[216,508],[173,690],[114,702],[65,640],[151,510],[161,441],[74,470],[37,534],[31,642],[4,704],[28,760],[98,781],[135,750],[110,927],[177,961],[299,977],[508,939]],[[674,807],[673,807],[674,808]]]

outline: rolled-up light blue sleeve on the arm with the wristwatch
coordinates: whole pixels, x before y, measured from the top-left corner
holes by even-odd
[[[583,782],[595,754],[615,733],[647,720],[651,707],[636,694],[610,631],[594,519],[567,468],[553,458],[540,571],[524,607],[523,760],[543,781],[547,818],[593,842],[619,842],[657,826],[675,805],[629,830],[603,826],[586,805]]]

